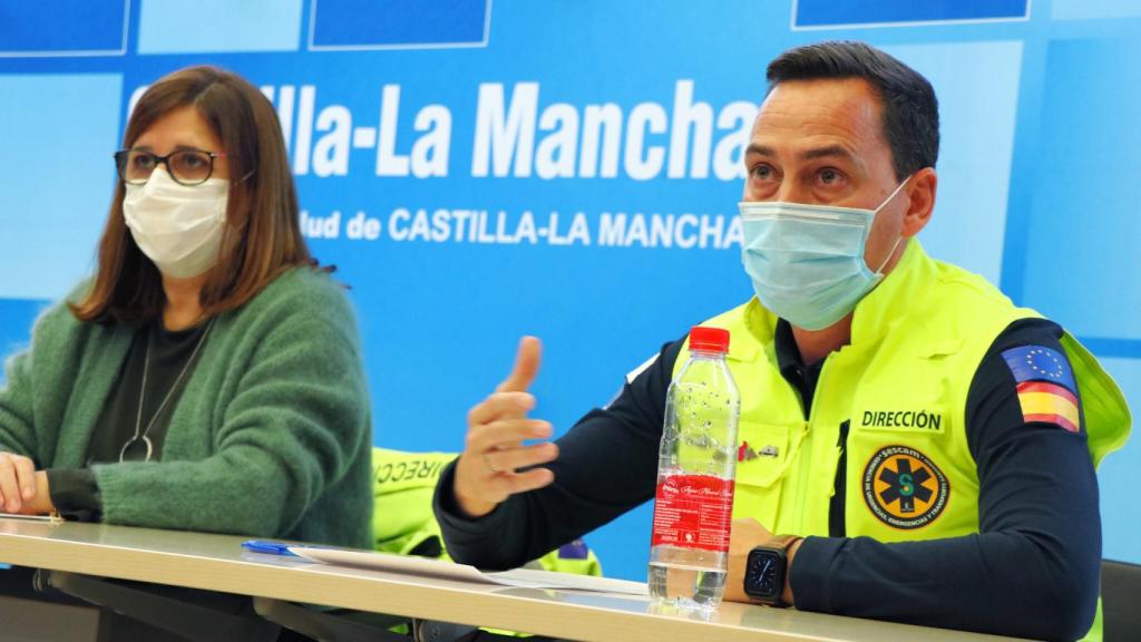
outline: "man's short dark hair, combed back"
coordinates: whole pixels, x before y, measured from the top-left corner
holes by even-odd
[[[919,72],[864,42],[830,41],[788,49],[769,63],[769,91],[791,80],[861,78],[883,104],[883,134],[896,178],[939,157],[939,103]]]

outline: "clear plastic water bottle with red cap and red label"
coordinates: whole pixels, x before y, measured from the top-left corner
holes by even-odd
[[[729,331],[695,327],[670,384],[658,450],[649,593],[657,604],[714,609],[725,594],[741,395]]]

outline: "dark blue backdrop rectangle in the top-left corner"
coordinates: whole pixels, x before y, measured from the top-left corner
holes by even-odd
[[[0,56],[121,53],[128,2],[0,0]]]

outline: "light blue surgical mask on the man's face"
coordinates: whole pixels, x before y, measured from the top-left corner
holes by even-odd
[[[883,279],[900,239],[874,272],[864,247],[875,215],[899,194],[896,187],[875,209],[761,201],[741,203],[745,272],[756,298],[798,328],[823,330],[856,308]]]

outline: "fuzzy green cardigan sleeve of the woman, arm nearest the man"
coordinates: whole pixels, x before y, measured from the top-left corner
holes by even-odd
[[[162,462],[94,466],[104,521],[284,537],[315,503],[359,506],[362,491],[367,499],[366,479],[346,479],[369,458],[372,435],[356,320],[341,288],[294,270],[220,316],[213,332]],[[201,446],[208,425],[210,443]]]

